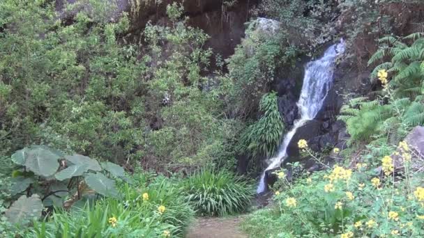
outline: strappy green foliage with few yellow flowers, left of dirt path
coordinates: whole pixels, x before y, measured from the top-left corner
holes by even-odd
[[[122,199],[105,198],[56,209],[46,221],[34,223],[36,237],[183,237],[193,210],[174,180],[135,174],[134,183],[122,184]],[[148,183],[149,182],[149,183]]]

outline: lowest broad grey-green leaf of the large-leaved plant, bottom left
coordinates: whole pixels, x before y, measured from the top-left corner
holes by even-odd
[[[37,194],[30,198],[22,195],[13,205],[6,210],[5,216],[11,223],[28,223],[32,219],[39,219],[43,211],[43,203]]]

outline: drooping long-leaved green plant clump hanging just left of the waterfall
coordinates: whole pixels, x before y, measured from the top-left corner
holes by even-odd
[[[264,154],[270,157],[280,145],[284,133],[284,123],[278,111],[276,93],[262,96],[259,109],[264,113],[261,119],[250,125],[241,135],[243,152],[252,156]]]

